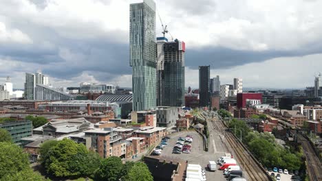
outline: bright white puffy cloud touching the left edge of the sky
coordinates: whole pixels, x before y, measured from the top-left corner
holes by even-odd
[[[19,29],[9,29],[4,23],[0,22],[0,43],[29,44],[32,43],[32,40]]]

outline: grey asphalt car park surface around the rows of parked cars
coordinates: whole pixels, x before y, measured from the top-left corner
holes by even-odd
[[[178,141],[178,138],[180,136],[186,137],[187,134],[193,136],[193,143],[191,144],[191,154],[172,154],[172,149],[175,146],[175,143]],[[206,180],[226,180],[222,171],[208,171],[208,169],[206,168],[209,160],[217,161],[217,158],[223,156],[226,152],[225,146],[222,144],[219,136],[215,134],[215,132],[211,133],[209,152],[204,152],[202,137],[195,131],[179,132],[170,137],[171,139],[168,141],[168,145],[165,145],[160,156],[164,156],[170,159],[175,158],[188,160],[188,162],[191,164],[201,165],[206,170]]]

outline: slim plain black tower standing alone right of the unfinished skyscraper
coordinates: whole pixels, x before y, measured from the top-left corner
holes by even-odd
[[[210,65],[199,67],[200,107],[210,106]]]

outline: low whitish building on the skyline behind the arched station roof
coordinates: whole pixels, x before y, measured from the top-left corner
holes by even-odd
[[[90,84],[82,82],[79,89],[80,93],[116,93],[116,86],[111,84]]]

